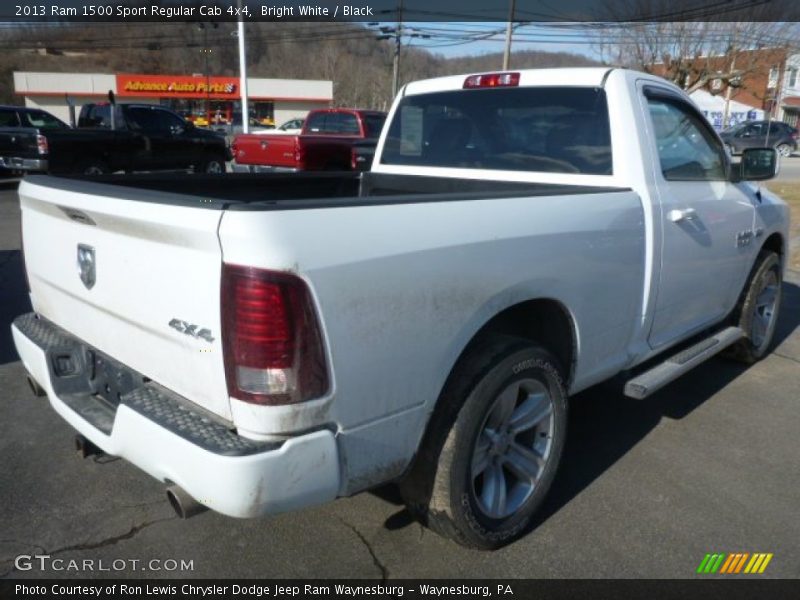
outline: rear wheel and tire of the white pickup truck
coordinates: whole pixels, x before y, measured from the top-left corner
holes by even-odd
[[[531,404],[543,393],[541,402],[550,403],[547,414]],[[501,406],[512,407],[507,429],[496,419]],[[530,414],[527,420],[534,422],[540,413],[545,416],[537,425],[513,433],[515,419],[521,423]],[[527,340],[494,338],[472,352],[450,377],[418,456],[400,482],[403,499],[421,522],[463,546],[504,546],[526,531],[550,489],[566,430],[567,396],[555,358]],[[526,464],[538,469],[538,475],[520,478],[520,458],[525,463],[534,456],[535,463]],[[509,514],[494,502],[496,496],[502,496]]]

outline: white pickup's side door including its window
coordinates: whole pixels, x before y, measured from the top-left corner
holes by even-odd
[[[661,268],[649,342],[669,344],[722,319],[752,264],[755,206],[727,177],[722,144],[705,118],[666,88],[647,85],[662,228]]]

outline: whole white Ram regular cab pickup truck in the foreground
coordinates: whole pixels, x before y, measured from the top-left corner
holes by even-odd
[[[688,97],[622,69],[398,95],[371,172],[26,178],[31,388],[181,516],[399,481],[459,543],[526,531],[567,398],[769,349],[788,214]],[[99,449],[99,450],[98,450]]]

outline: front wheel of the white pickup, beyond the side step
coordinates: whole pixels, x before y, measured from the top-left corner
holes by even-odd
[[[729,358],[752,364],[769,352],[780,312],[782,283],[780,257],[762,250],[734,313],[734,324],[745,337],[731,346]]]

